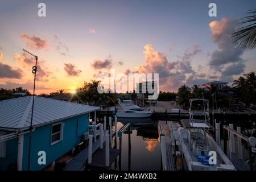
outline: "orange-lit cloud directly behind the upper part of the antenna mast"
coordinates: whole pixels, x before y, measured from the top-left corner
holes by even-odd
[[[35,65],[34,57],[28,55],[28,53],[22,53],[20,56],[19,53],[14,53],[14,59],[18,60],[18,64],[21,65],[23,68],[32,67]],[[46,61],[40,59],[37,65],[37,72],[36,72],[36,80],[47,82],[49,81],[49,76],[52,72],[48,71],[46,66]]]

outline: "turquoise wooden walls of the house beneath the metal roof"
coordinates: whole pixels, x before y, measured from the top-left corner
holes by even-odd
[[[61,121],[64,123],[63,127],[63,140],[51,145],[51,130],[52,125],[46,125],[37,127],[32,132],[32,144],[31,144],[31,159],[30,169],[40,170],[51,164],[54,160],[60,158],[73,147],[77,146],[81,142],[82,134],[88,131],[89,127],[89,115],[84,114],[78,117],[66,119]],[[23,165],[22,169],[28,168],[28,146],[29,146],[29,134],[24,135],[23,146]],[[38,164],[38,152],[46,152],[46,164]],[[0,158],[0,169],[6,170],[7,166],[11,162],[17,162],[18,155],[18,139],[12,139],[7,141],[6,158]]]

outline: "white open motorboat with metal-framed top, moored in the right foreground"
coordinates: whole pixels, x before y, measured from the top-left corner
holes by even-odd
[[[192,104],[203,101],[204,111],[195,111]],[[179,143],[181,156],[189,171],[236,171],[229,158],[221,150],[209,133],[209,101],[205,99],[189,100],[189,119],[181,119],[183,127],[172,126],[171,137]],[[195,119],[195,114],[204,116],[204,119]],[[175,137],[178,136],[178,137]]]

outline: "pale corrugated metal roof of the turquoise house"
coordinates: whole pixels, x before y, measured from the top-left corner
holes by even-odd
[[[0,101],[0,127],[21,129],[31,122],[33,96]],[[35,96],[33,126],[89,113],[100,107]]]

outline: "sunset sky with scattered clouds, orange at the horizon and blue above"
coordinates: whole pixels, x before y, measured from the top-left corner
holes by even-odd
[[[46,16],[38,16],[38,4]],[[217,5],[210,17],[209,3]],[[255,1],[3,1],[0,88],[36,94],[70,92],[99,73],[159,73],[159,89],[176,92],[256,70],[255,50],[233,46],[236,21]]]

